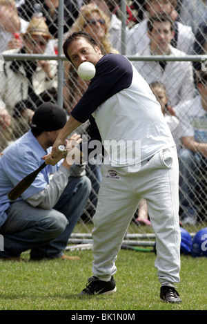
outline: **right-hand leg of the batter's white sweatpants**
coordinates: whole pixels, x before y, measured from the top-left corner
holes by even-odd
[[[166,169],[157,169],[152,173],[152,190],[145,196],[156,235],[155,267],[161,285],[174,286],[179,283],[181,242],[177,151],[170,148],[159,152],[154,158],[157,159],[158,165],[159,161],[166,164]]]

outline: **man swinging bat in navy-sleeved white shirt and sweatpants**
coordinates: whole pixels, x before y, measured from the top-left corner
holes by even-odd
[[[161,107],[130,61],[122,55],[101,55],[86,32],[70,35],[63,51],[76,68],[90,61],[96,74],[44,159],[54,165],[63,158],[57,146],[88,119],[108,153],[108,163],[103,161],[101,166],[103,180],[93,218],[94,276],[81,294],[116,291],[115,260],[139,201],[145,198],[156,235],[160,297],[167,303],[180,303],[175,290],[180,270],[179,169],[175,142]],[[123,144],[117,155],[110,149],[112,142]]]

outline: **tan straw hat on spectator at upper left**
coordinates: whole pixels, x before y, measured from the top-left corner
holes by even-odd
[[[52,35],[49,32],[48,25],[43,17],[32,17],[24,35],[41,35],[50,39]]]

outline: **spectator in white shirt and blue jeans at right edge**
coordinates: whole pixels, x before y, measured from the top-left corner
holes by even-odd
[[[180,203],[182,222],[195,225],[197,221],[197,175],[206,174],[207,163],[207,72],[201,71],[197,83],[199,95],[184,102],[177,112],[184,133],[184,149],[179,152]],[[200,183],[202,185],[202,183]]]

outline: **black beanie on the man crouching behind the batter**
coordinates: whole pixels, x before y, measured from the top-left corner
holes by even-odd
[[[57,131],[63,128],[66,122],[66,111],[63,108],[52,102],[45,102],[35,111],[31,128],[37,131]]]

